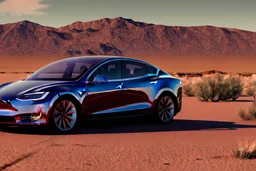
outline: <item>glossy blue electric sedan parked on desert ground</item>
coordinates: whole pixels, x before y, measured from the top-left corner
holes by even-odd
[[[67,132],[82,119],[151,115],[170,122],[182,106],[178,78],[124,57],[73,57],[0,86],[0,124]]]

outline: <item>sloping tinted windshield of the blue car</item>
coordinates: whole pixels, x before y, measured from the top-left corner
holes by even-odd
[[[101,60],[99,58],[71,58],[57,61],[34,72],[26,80],[76,80]]]

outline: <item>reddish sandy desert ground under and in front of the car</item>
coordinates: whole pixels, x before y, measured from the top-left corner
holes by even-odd
[[[235,159],[237,143],[256,140],[256,121],[237,116],[252,99],[203,103],[184,97],[167,125],[147,119],[85,122],[70,135],[42,129],[2,129],[0,168],[6,170],[255,170]],[[1,170],[1,169],[0,169]]]

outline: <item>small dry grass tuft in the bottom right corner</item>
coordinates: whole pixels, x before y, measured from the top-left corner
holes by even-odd
[[[256,158],[256,142],[249,143],[249,141],[243,143],[242,147],[234,152],[235,157],[239,159],[255,159]]]

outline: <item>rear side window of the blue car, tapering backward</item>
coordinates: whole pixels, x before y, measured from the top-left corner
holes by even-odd
[[[157,72],[157,69],[152,66],[134,61],[125,61],[122,69],[124,78],[141,77],[147,74],[156,74]]]

